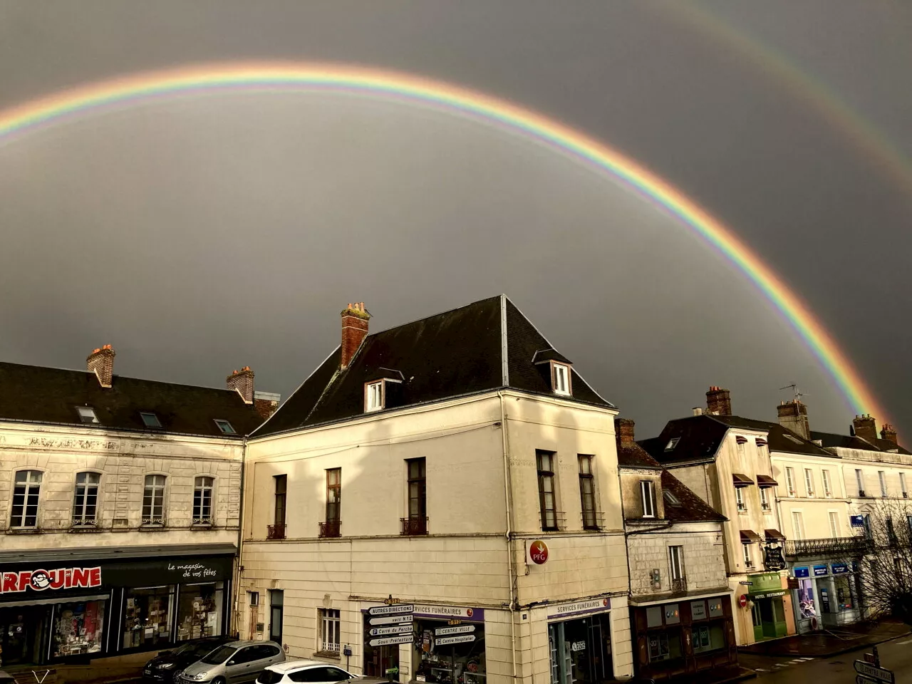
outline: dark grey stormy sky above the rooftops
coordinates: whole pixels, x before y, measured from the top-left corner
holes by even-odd
[[[912,5],[0,0],[0,109],[254,58],[440,78],[623,150],[734,227],[912,430],[910,181],[808,98],[829,88],[912,157]],[[0,226],[9,361],[79,368],[110,343],[124,375],[220,385],[250,365],[287,396],[337,345],[349,301],[381,329],[505,292],[639,436],[710,384],[754,418],[774,419],[793,381],[813,428],[853,416],[772,306],[652,204],[397,102],[172,98],[0,142]]]

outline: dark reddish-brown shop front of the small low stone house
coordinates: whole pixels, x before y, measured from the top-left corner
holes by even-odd
[[[668,679],[738,662],[731,596],[632,605],[637,674]]]

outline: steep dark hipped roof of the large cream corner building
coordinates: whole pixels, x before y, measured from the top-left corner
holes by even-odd
[[[254,436],[363,415],[364,383],[378,378],[378,368],[393,368],[404,378],[396,405],[387,410],[502,387],[553,397],[547,364],[533,363],[536,352],[545,351],[550,356],[554,347],[506,296],[482,299],[368,334],[342,371],[337,347]],[[571,373],[573,396],[561,399],[614,408],[575,369]]]

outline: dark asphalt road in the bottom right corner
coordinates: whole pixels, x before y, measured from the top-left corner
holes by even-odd
[[[740,654],[741,667],[757,672],[763,684],[850,684],[855,682],[855,660],[864,660],[870,646],[833,658],[778,658]],[[912,637],[898,637],[877,647],[880,667],[896,673],[896,683],[912,682]]]

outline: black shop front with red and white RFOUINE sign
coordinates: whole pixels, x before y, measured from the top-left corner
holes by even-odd
[[[88,661],[227,632],[233,554],[0,565],[3,665]]]

